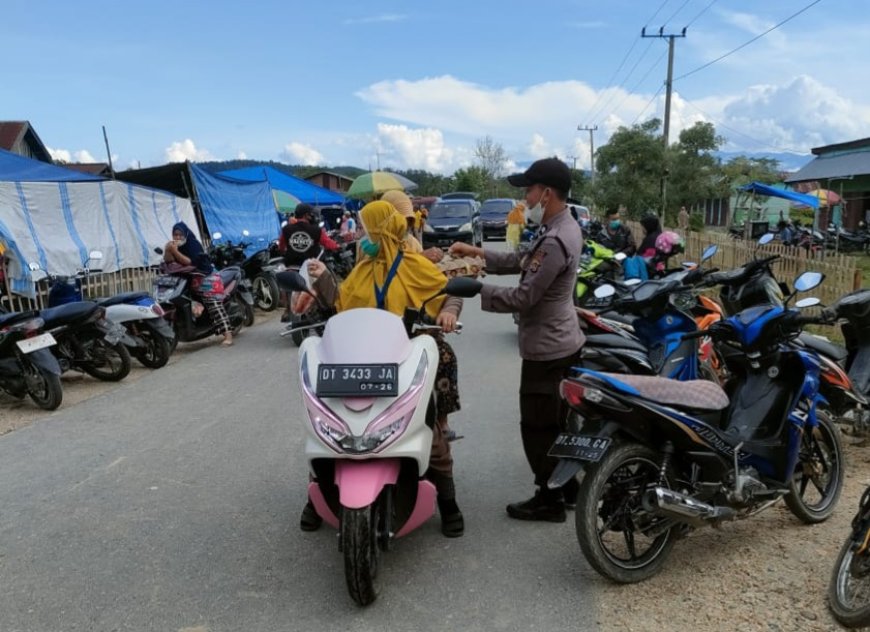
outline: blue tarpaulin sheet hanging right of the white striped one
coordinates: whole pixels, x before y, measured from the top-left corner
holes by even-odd
[[[213,174],[190,165],[196,194],[208,230],[219,232],[218,243],[244,241],[251,254],[268,246],[281,230],[272,189],[263,178],[258,181]],[[247,230],[246,237],[242,231]]]

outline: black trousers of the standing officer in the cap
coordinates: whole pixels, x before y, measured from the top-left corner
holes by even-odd
[[[520,374],[520,432],[535,485],[547,489],[556,459],[547,451],[565,429],[568,405],[559,397],[559,382],[576,364],[579,352],[557,360],[523,360]]]

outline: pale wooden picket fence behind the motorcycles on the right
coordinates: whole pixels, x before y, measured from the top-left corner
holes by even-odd
[[[643,229],[636,222],[628,222],[638,244],[642,239]],[[815,270],[825,275],[825,281],[812,291],[825,305],[830,305],[843,294],[861,287],[861,269],[853,256],[826,253],[810,253],[799,247],[785,246],[779,242],[771,242],[759,246],[756,242],[734,239],[725,233],[689,232],[686,237],[686,252],[675,256],[669,265],[679,265],[682,261],[699,261],[701,253],[710,245],[718,247],[716,255],[706,266],[720,270],[731,270],[743,265],[753,257],[763,258],[779,255],[773,262],[776,278],[792,285],[792,281],[801,272]]]

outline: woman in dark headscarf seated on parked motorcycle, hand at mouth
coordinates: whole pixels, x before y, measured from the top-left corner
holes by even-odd
[[[178,263],[183,266],[193,266],[201,276],[193,277],[193,291],[202,299],[209,316],[215,325],[218,335],[223,335],[224,346],[233,344],[233,334],[230,330],[230,320],[224,309],[224,284],[220,275],[214,271],[211,260],[184,222],[178,222],[172,227],[172,241],[163,249],[163,260],[168,263]]]

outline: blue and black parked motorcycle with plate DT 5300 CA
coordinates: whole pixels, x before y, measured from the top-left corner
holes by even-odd
[[[807,291],[822,279],[806,272],[794,287]],[[839,434],[819,395],[819,357],[788,344],[804,324],[824,319],[800,311],[817,299],[788,302],[682,335],[740,352],[724,389],[584,369],[562,382],[575,427],[550,454],[585,470],[577,539],[600,574],[647,579],[693,528],[748,518],[780,499],[805,523],[831,515],[843,485]],[[562,469],[551,487],[564,483]]]

